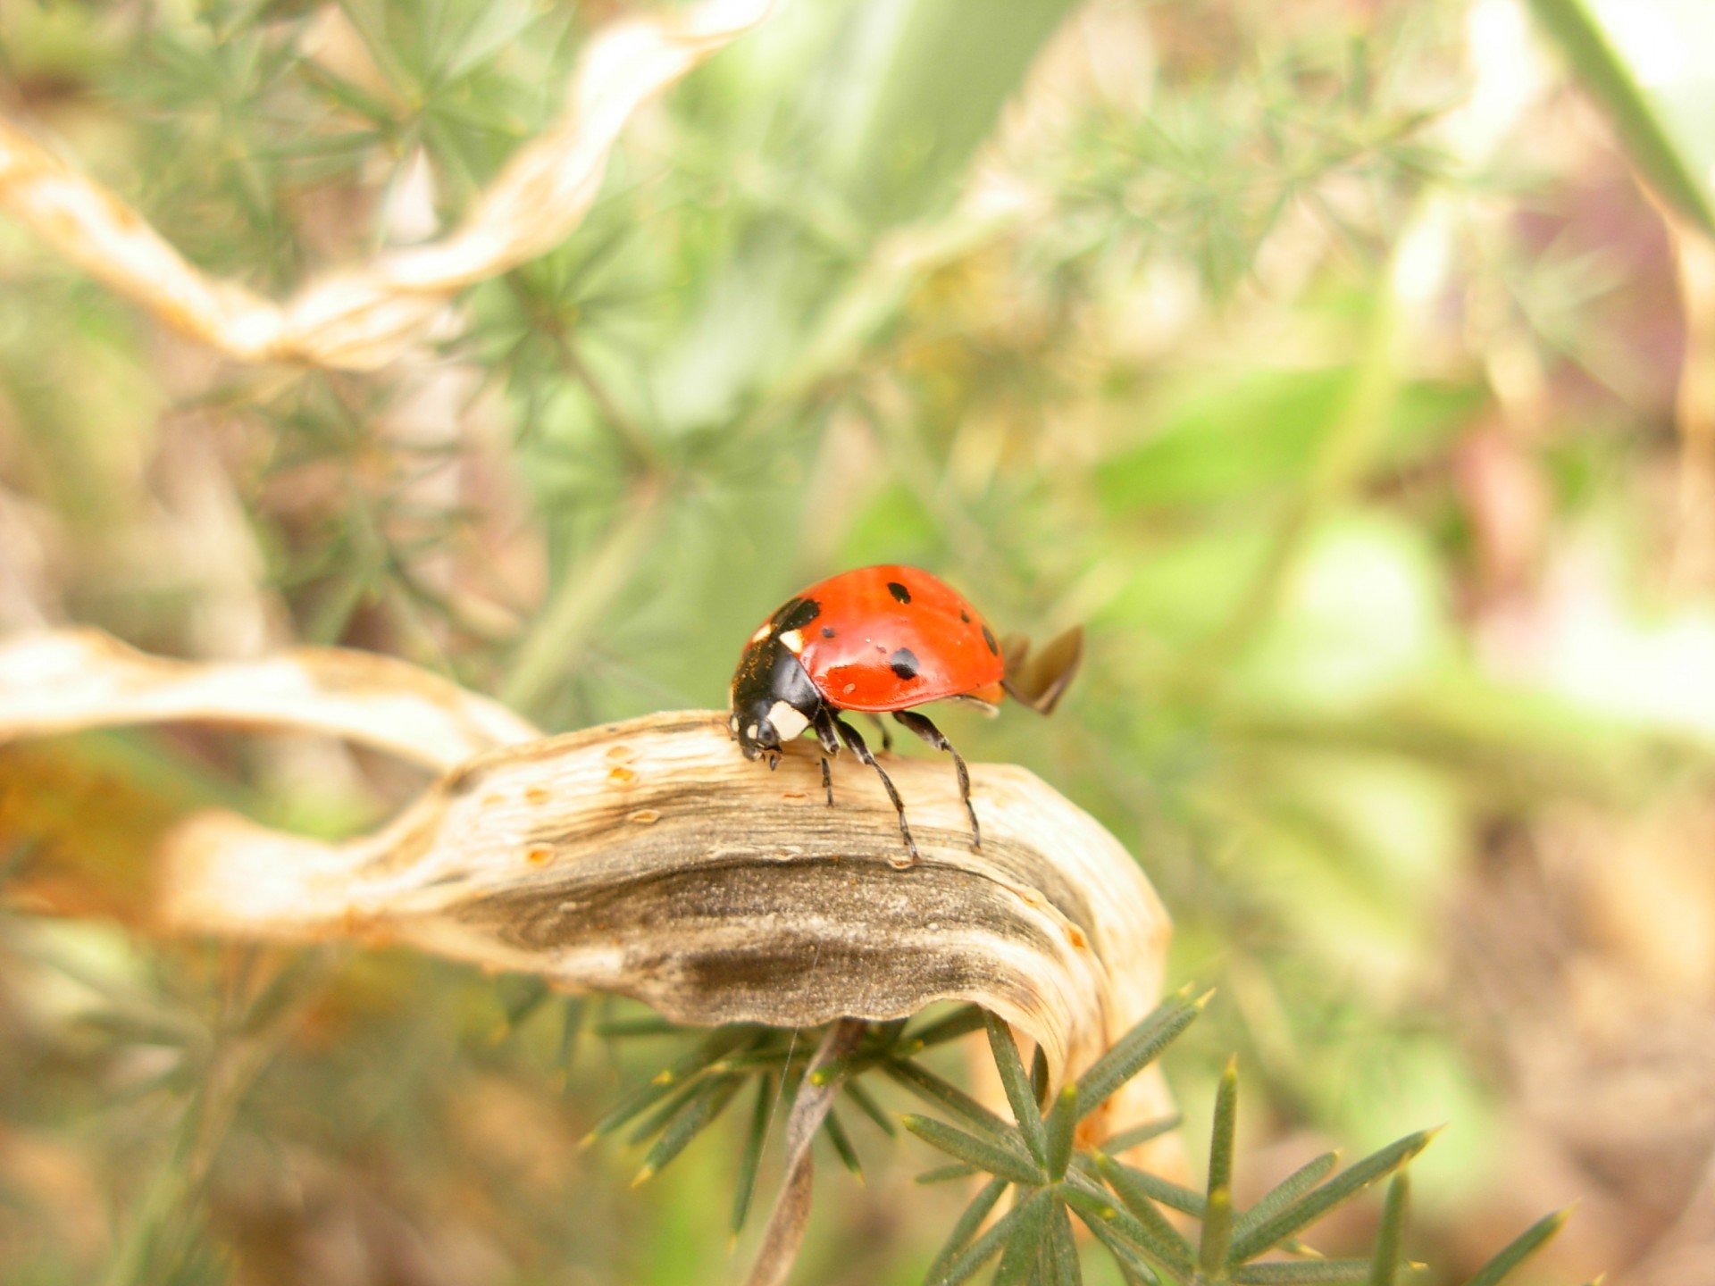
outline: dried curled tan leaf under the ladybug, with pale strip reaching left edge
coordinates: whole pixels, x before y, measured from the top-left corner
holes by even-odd
[[[331,691],[329,657],[345,691]],[[220,717],[417,742],[427,758],[420,729],[502,713],[403,662],[362,660],[340,670],[352,653],[309,650],[190,665],[89,633],[39,636],[0,648],[0,739]],[[159,854],[163,921],[401,941],[636,996],[684,1024],[806,1027],[972,1001],[1039,1041],[1055,1084],[1159,995],[1170,924],[1142,871],[1022,768],[971,765],[983,818],[972,850],[947,763],[895,758],[923,852],[899,869],[899,826],[875,775],[835,763],[828,808],[809,742],[770,773],[739,754],[722,712],[521,742],[508,720],[466,736],[518,744],[461,761],[374,835],[321,844],[226,813],[190,818]],[[1146,1075],[1084,1130],[1103,1139],[1170,1111]]]

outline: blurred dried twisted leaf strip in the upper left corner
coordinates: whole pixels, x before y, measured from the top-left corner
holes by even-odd
[[[245,362],[367,370],[400,355],[453,291],[556,243],[595,201],[631,113],[736,36],[770,0],[705,0],[684,14],[616,22],[587,50],[559,120],[523,147],[465,223],[422,247],[305,286],[286,303],[190,266],[149,223],[0,117],[0,209],[170,326]]]

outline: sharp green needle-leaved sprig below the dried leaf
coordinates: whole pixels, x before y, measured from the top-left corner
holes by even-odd
[[[1403,1259],[1408,1209],[1406,1166],[1434,1139],[1434,1130],[1410,1133],[1345,1169],[1326,1152],[1300,1166],[1249,1209],[1235,1209],[1233,1168],[1238,1120],[1238,1070],[1230,1061],[1219,1080],[1209,1132],[1207,1183],[1199,1192],[1118,1157],[1180,1127],[1176,1116],[1132,1127],[1099,1145],[1079,1145],[1079,1121],[1127,1080],[1152,1065],[1197,1019],[1207,996],[1180,991],[1104,1053],[1058,1094],[1048,1094],[1046,1065],[1026,1070],[1012,1031],[974,1007],[912,1027],[907,1022],[868,1027],[856,1049],[813,1072],[809,1032],[767,1027],[720,1029],[621,1099],[590,1132],[590,1140],[628,1132],[647,1145],[636,1181],[653,1176],[741,1097],[746,1082],[753,1109],[734,1176],[732,1231],[744,1226],[756,1188],[775,1096],[791,1097],[806,1072],[813,1084],[837,1084],[840,1096],[888,1137],[894,1123],[863,1085],[868,1073],[894,1084],[950,1115],[909,1113],[900,1123],[954,1163],[931,1169],[919,1183],[978,1181],[981,1187],[954,1224],[947,1243],[924,1274],[924,1286],[955,1286],[1000,1257],[995,1283],[1072,1286],[1084,1281],[1072,1221],[1089,1229],[1113,1257],[1127,1283],[1170,1281],[1178,1286],[1218,1283],[1369,1283],[1393,1286],[1413,1265]],[[573,1019],[569,1019],[573,1020]],[[607,1027],[609,1036],[650,1032]],[[919,1061],[919,1055],[974,1031],[988,1034],[995,1070],[1005,1087],[1012,1120],[984,1108]],[[852,1140],[835,1113],[823,1133],[847,1169],[861,1173]],[[588,1140],[587,1140],[588,1142]],[[1326,1259],[1310,1247],[1314,1226],[1326,1216],[1393,1176],[1370,1255]],[[1010,1207],[1002,1202],[1012,1193]],[[1188,1236],[1180,1216],[1199,1224]],[[1468,1286],[1495,1286],[1540,1248],[1566,1221],[1550,1214],[1525,1229]],[[1267,1257],[1267,1259],[1266,1259]]]

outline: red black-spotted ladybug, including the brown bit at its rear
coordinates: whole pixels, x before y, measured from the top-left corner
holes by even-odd
[[[732,739],[744,758],[780,761],[780,746],[804,732],[821,742],[821,785],[833,804],[828,756],[844,742],[875,768],[899,811],[899,832],[911,861],[918,845],[906,825],[906,804],[858,729],[840,718],[854,710],[892,737],[882,715],[954,756],[959,794],[971,816],[971,847],[983,830],[971,804],[971,773],[942,730],[916,706],[954,700],[996,713],[1002,698],[1050,713],[1082,655],[1082,629],[1070,629],[1031,664],[1029,645],[995,638],[981,614],[954,588],[919,568],[883,564],[830,576],[787,598],[756,628],[732,676]]]

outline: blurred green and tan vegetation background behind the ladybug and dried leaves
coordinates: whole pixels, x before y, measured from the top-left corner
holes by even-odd
[[[283,295],[465,213],[624,12],[0,0],[0,110]],[[722,703],[755,622],[845,566],[1082,621],[1051,722],[945,727],[1101,818],[1173,979],[1219,988],[1168,1063],[1192,1137],[1237,1049],[1257,1188],[1451,1121],[1415,1168],[1430,1279],[1581,1200],[1526,1281],[1689,1283],[1712,27],[796,0],[374,376],[221,362],[0,218],[0,631],[376,648],[573,729]],[[741,1113],[636,1192],[636,1152],[576,1147],[674,1037],[566,1049],[516,979],[123,914],[185,808],[345,833],[418,784],[286,737],[0,749],[0,1277],[732,1279]],[[801,1281],[916,1281],[957,1209],[866,1128]]]

